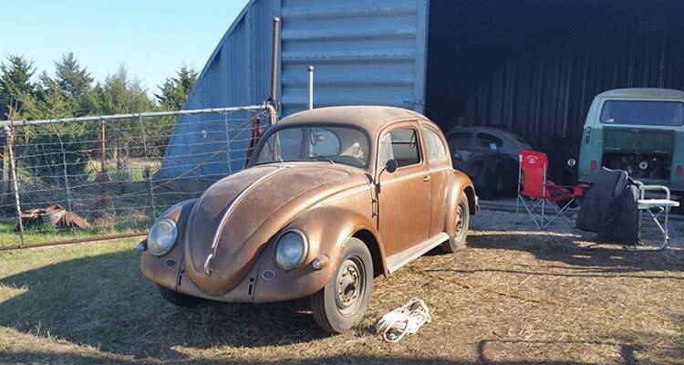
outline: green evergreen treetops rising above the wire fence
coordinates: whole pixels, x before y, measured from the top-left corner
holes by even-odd
[[[95,82],[73,53],[55,62],[53,76],[36,72],[23,56],[9,55],[0,63],[0,117],[36,120],[180,110],[197,79],[194,69],[183,66],[150,98],[125,67]]]

